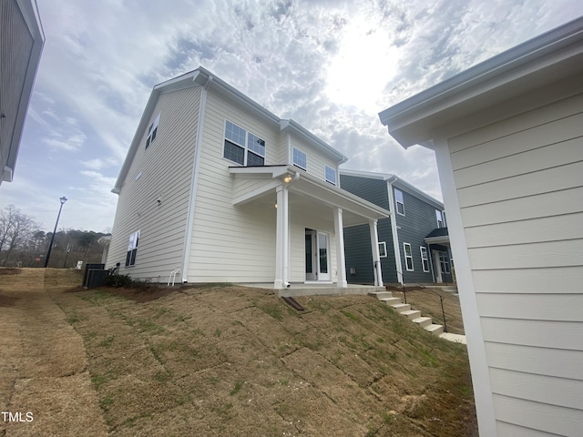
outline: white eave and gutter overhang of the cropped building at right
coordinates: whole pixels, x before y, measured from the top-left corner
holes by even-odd
[[[583,17],[468,68],[379,113],[404,147],[431,147],[436,129],[583,74]],[[559,98],[559,97],[557,97]]]

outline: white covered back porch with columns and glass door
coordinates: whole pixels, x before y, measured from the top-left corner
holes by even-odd
[[[347,289],[343,228],[362,224],[370,229],[374,285],[383,287],[377,220],[389,211],[288,165],[233,167],[230,173],[234,207],[276,210],[272,289],[293,287],[295,295],[306,290],[298,285]]]

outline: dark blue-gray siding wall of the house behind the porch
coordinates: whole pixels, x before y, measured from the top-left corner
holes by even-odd
[[[395,181],[393,186],[403,192],[404,200],[404,216],[401,214],[394,214],[396,225],[401,228],[397,229],[397,235],[399,237],[399,250],[402,263],[401,269],[403,271],[404,283],[410,285],[413,285],[414,283],[432,283],[433,276],[431,268],[429,269],[429,272],[423,271],[421,250],[419,248],[427,248],[424,239],[427,234],[437,228],[435,207],[424,202],[424,200],[415,197],[410,191],[407,191],[406,187],[399,184],[398,181]],[[396,210],[396,206],[394,210]],[[406,260],[404,258],[403,243],[411,244],[414,271],[407,271],[405,267]]]

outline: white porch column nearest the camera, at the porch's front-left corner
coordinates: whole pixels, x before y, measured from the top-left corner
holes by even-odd
[[[288,188],[280,185],[277,192],[277,225],[275,231],[275,281],[274,289],[284,289],[290,280]]]

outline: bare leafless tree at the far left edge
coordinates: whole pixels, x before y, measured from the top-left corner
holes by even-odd
[[[20,212],[14,205],[0,211],[0,264],[5,266],[15,249],[26,246],[39,227],[36,220]]]

